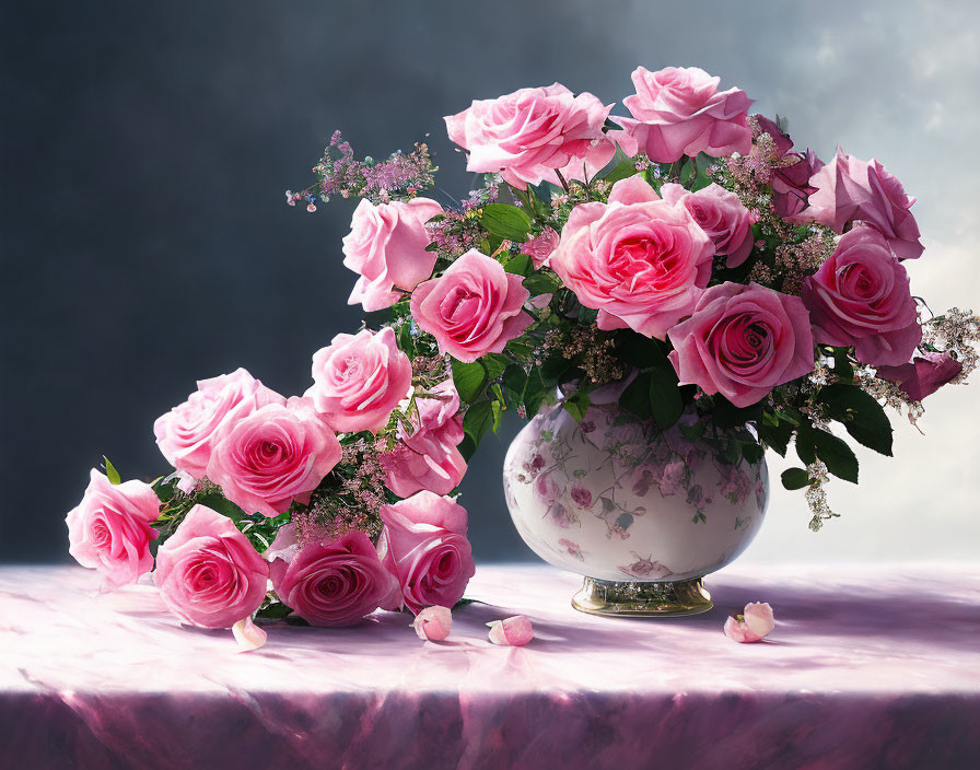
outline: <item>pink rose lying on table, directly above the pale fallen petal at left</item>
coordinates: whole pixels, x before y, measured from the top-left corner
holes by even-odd
[[[153,574],[184,622],[231,628],[261,605],[269,567],[231,518],[195,505],[160,547]]]

